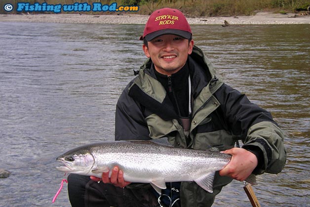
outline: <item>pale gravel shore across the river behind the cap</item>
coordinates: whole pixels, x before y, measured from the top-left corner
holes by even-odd
[[[0,14],[0,22],[80,23],[80,24],[145,24],[149,16],[138,14]],[[246,25],[246,24],[310,24],[310,15],[259,12],[254,16],[187,18],[191,25]]]

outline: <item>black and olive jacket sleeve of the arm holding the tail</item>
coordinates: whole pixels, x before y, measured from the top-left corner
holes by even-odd
[[[280,172],[286,162],[284,135],[271,114],[226,84],[215,92],[215,96],[221,103],[231,133],[243,141],[242,148],[254,153],[258,159],[253,173]]]

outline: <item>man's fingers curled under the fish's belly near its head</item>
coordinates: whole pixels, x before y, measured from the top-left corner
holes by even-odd
[[[90,176],[90,179],[93,181],[102,181],[103,183],[111,183],[116,187],[123,188],[130,184],[130,182],[126,182],[123,177],[123,171],[119,170],[117,166],[115,166],[112,170],[111,178],[109,178],[109,171],[102,173],[102,178],[98,178],[95,176]]]

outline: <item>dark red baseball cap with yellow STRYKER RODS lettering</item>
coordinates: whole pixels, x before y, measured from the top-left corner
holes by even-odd
[[[147,41],[151,41],[165,34],[178,35],[185,39],[192,37],[191,27],[180,10],[161,8],[154,11],[145,25],[140,40],[145,38]]]

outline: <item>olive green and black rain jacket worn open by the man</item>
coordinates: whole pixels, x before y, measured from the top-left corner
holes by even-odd
[[[188,58],[193,97],[189,140],[151,64],[148,59],[141,66],[138,77],[126,86],[118,99],[116,140],[168,137],[176,147],[202,150],[217,147],[220,151],[233,148],[237,140],[242,140],[242,147],[258,158],[259,164],[253,173],[282,170],[286,161],[283,133],[271,114],[225,84],[198,47],[194,46]],[[182,182],[181,206],[211,206],[215,195],[231,181],[216,173],[212,194],[194,182]]]

